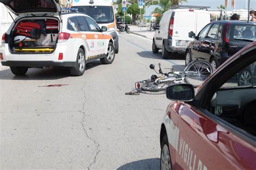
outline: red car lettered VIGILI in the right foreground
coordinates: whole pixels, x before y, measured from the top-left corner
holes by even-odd
[[[255,67],[256,41],[196,90],[166,89],[172,102],[161,124],[161,169],[256,169],[256,81],[239,83],[245,70],[256,77]]]

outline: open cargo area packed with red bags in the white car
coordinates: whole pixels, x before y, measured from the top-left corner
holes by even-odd
[[[9,36],[10,51],[11,53],[52,53],[56,48],[58,33],[57,18],[19,20]]]

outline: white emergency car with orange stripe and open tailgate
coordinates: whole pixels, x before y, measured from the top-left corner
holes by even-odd
[[[15,75],[53,66],[70,67],[71,74],[79,76],[88,62],[113,62],[112,36],[84,13],[62,15],[58,1],[0,2],[17,15],[0,47],[2,65]]]

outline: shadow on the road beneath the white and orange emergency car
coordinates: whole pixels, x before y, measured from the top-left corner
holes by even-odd
[[[86,64],[86,70],[102,65],[97,60]],[[29,68],[28,73],[22,76],[16,76],[11,73],[11,69],[4,69],[0,71],[0,80],[58,80],[70,75],[69,68],[58,67],[44,67],[44,68]]]

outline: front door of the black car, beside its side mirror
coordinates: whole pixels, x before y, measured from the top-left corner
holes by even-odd
[[[200,47],[201,44],[204,42],[206,38],[206,34],[208,30],[210,29],[211,24],[206,25],[198,34],[196,39],[192,41],[191,45],[191,54],[192,54],[192,60],[196,60],[197,58],[200,58]]]

